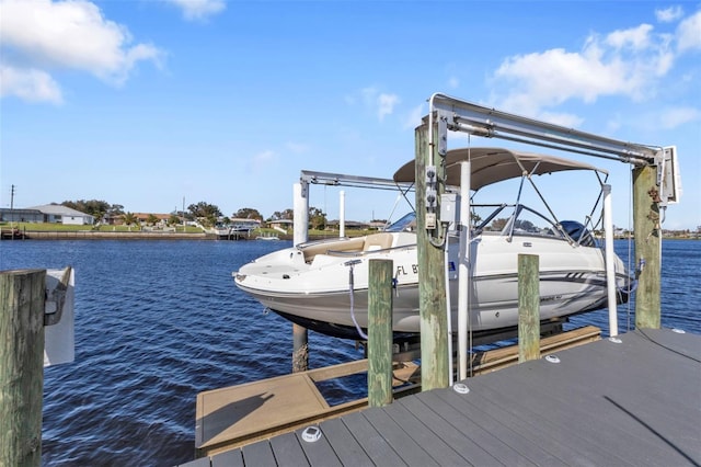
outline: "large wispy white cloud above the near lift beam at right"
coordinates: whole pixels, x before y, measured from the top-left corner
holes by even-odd
[[[693,18],[699,16],[699,20]],[[697,42],[701,14],[679,26],[679,37]],[[655,33],[650,24],[613,31],[605,36],[590,35],[578,52],[553,48],[542,53],[518,55],[505,59],[495,71],[495,83],[503,90],[498,104],[514,112],[543,114],[543,107],[568,100],[593,103],[604,95],[624,95],[643,101],[657,92],[657,82],[674,66],[674,36]],[[691,39],[679,42],[690,47]],[[503,88],[502,88],[503,86]],[[561,124],[576,123],[574,115],[551,115]],[[549,118],[550,119],[550,118]]]

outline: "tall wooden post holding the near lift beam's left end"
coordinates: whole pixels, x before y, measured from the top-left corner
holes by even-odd
[[[444,271],[444,251],[432,243],[429,234],[436,229],[426,229],[426,166],[430,164],[435,152],[435,143],[429,146],[428,132],[436,128],[423,124],[416,128],[416,249],[418,259],[418,308],[421,315],[421,385],[422,390],[445,388],[448,386],[448,319],[446,316],[446,276]],[[437,181],[443,181],[445,168],[435,161]],[[437,184],[439,184],[437,183]],[[440,197],[440,191],[436,190]],[[436,212],[439,200],[436,200]],[[440,219],[436,220],[440,224]]]

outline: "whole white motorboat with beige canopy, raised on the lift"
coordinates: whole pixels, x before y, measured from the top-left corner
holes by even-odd
[[[551,156],[497,148],[449,151],[447,185],[459,185],[460,162],[470,158],[471,189],[507,179],[568,170],[594,172],[599,185],[606,171]],[[414,161],[404,164],[395,182],[414,179]],[[517,258],[536,254],[540,264],[540,317],[547,321],[607,306],[605,252],[590,230],[576,221],[543,216],[520,202],[490,207],[476,223],[470,241],[470,324],[475,333],[492,333],[518,323]],[[544,202],[544,200],[543,200]],[[595,203],[596,204],[596,203]],[[547,205],[547,204],[545,204]],[[552,214],[550,207],[547,209]],[[505,216],[506,217],[499,217]],[[496,229],[495,229],[496,227]],[[266,254],[232,273],[237,286],[280,316],[326,334],[358,339],[367,328],[368,261],[393,261],[393,330],[420,332],[418,262],[415,216],[405,216],[386,231],[357,238],[326,239]],[[448,236],[448,278],[452,329],[457,329],[459,239]],[[628,300],[630,277],[614,255],[618,301]]]

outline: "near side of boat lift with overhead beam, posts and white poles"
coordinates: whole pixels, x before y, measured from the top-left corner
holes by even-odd
[[[427,125],[426,125],[427,123]],[[445,168],[441,161],[448,153],[448,130],[467,133],[470,135],[486,138],[501,138],[505,140],[545,147],[549,149],[574,152],[590,157],[618,160],[634,166],[634,230],[635,251],[641,264],[637,271],[639,299],[636,300],[635,316],[637,327],[659,328],[659,271],[662,257],[662,229],[659,208],[666,208],[667,204],[677,203],[681,193],[680,176],[676,161],[675,147],[650,146],[620,141],[589,133],[553,125],[532,118],[508,114],[496,109],[481,106],[464,100],[456,99],[444,93],[435,93],[428,100],[428,115],[424,117],[424,125],[417,128],[417,141],[426,139],[427,147],[422,144],[416,145],[416,167],[417,171],[425,170],[425,176],[416,174],[416,200],[424,200],[424,209],[417,208],[417,214],[423,210],[424,229],[420,229],[425,235],[418,235],[420,258],[421,250],[430,250],[430,247],[440,244],[441,237],[447,223],[441,221],[444,210],[440,208],[441,193],[445,186],[441,185],[441,178]],[[422,133],[423,132],[423,133]],[[420,164],[420,159],[423,163]],[[463,162],[466,166],[469,162]],[[468,280],[470,259],[469,249],[469,166],[461,170],[461,197],[459,226],[461,231],[461,261],[459,266],[460,295],[459,295],[459,366],[460,379],[467,377],[467,332],[468,332]],[[444,190],[441,190],[444,189]],[[609,292],[609,326],[610,335],[618,334],[617,311],[616,311],[616,285],[613,271],[613,232],[611,218],[610,185],[605,186],[604,192],[604,227],[606,235],[606,264],[607,283]],[[645,212],[648,209],[650,212]],[[451,213],[452,215],[452,213]],[[652,239],[652,240],[651,240]],[[430,259],[428,260],[430,261]],[[646,274],[642,274],[642,264],[647,264]],[[652,266],[652,267],[651,267]],[[436,266],[437,269],[438,266]],[[429,267],[420,267],[421,274],[429,274]],[[424,281],[428,275],[424,276]],[[445,280],[445,278],[444,278]],[[640,297],[642,291],[642,297]],[[443,304],[435,304],[432,300],[420,300],[426,305],[422,307],[422,330],[424,322],[426,329],[439,327],[440,320],[434,319],[440,310],[430,309]],[[423,308],[429,308],[427,310]],[[647,309],[646,309],[647,308]],[[652,315],[652,317],[651,317]],[[639,319],[640,318],[640,319]],[[449,322],[449,321],[448,321]],[[449,326],[449,324],[448,324]],[[440,346],[440,334],[447,335],[450,330],[434,330],[434,335],[424,335],[422,332],[422,349],[425,346],[436,350]],[[450,339],[447,339],[450,342]],[[447,352],[451,358],[451,352]],[[423,358],[422,358],[423,361]],[[443,365],[433,363],[436,358],[426,358],[424,368],[426,377],[422,376],[423,386],[426,389],[433,387],[444,387],[445,378],[441,371]],[[452,373],[450,372],[450,375]]]

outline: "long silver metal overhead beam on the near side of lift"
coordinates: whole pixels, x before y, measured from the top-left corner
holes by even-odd
[[[620,160],[636,166],[655,164],[664,157],[664,148],[637,145],[553,125],[468,101],[435,93],[429,99],[428,124],[438,124],[438,153],[447,152],[448,129],[487,138],[542,146],[605,159]],[[428,134],[433,144],[433,132]]]

